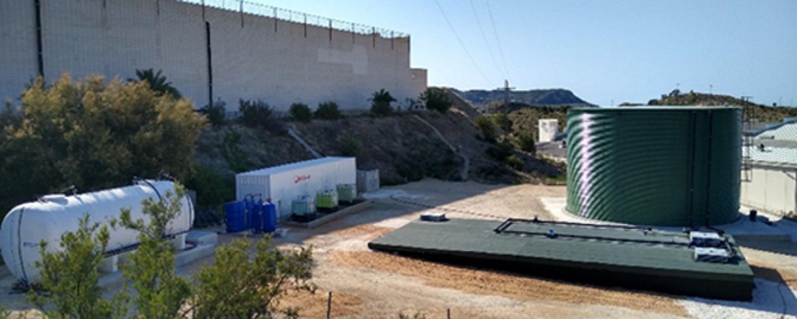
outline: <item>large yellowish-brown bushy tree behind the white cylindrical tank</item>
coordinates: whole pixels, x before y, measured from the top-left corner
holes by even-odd
[[[96,76],[51,87],[40,79],[21,100],[18,124],[0,133],[0,217],[69,185],[94,191],[162,170],[185,179],[206,126],[189,100]]]

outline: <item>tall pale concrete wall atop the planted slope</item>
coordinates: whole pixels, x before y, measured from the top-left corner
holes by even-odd
[[[201,107],[210,100],[207,22],[213,96],[228,110],[238,108],[238,99],[283,110],[327,100],[367,108],[379,89],[398,100],[420,93],[409,37],[330,31],[210,7],[203,18],[202,11],[174,0],[41,0],[45,79],[63,73],[127,79],[135,69],[161,69]],[[0,1],[0,18],[0,98],[14,99],[38,70],[33,1]]]

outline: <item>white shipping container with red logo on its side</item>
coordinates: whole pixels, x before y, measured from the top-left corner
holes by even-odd
[[[354,157],[324,157],[247,171],[235,175],[235,198],[247,195],[271,199],[277,206],[277,218],[291,214],[296,196],[316,196],[319,191],[335,190],[337,184],[357,183]]]

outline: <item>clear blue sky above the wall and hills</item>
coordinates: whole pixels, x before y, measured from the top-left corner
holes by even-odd
[[[410,33],[430,85],[492,89],[508,73],[602,105],[676,87],[797,105],[797,1],[438,0],[475,65],[434,0],[250,1]]]

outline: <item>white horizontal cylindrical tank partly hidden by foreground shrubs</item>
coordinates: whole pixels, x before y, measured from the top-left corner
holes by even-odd
[[[18,279],[33,282],[39,270],[35,263],[41,260],[39,242],[47,242],[48,251],[61,250],[61,234],[77,230],[80,219],[88,213],[89,224],[108,224],[118,219],[123,208],[130,209],[133,220],[149,219],[143,215],[144,199],[159,200],[167,192],[174,193],[175,184],[169,181],[141,180],[132,186],[113,188],[79,195],[46,195],[37,202],[14,207],[0,226],[0,250],[3,261]],[[194,223],[194,205],[186,195],[182,208],[167,227],[168,234],[188,231]],[[123,250],[138,243],[138,232],[117,226],[108,226],[110,238],[106,252]]]

